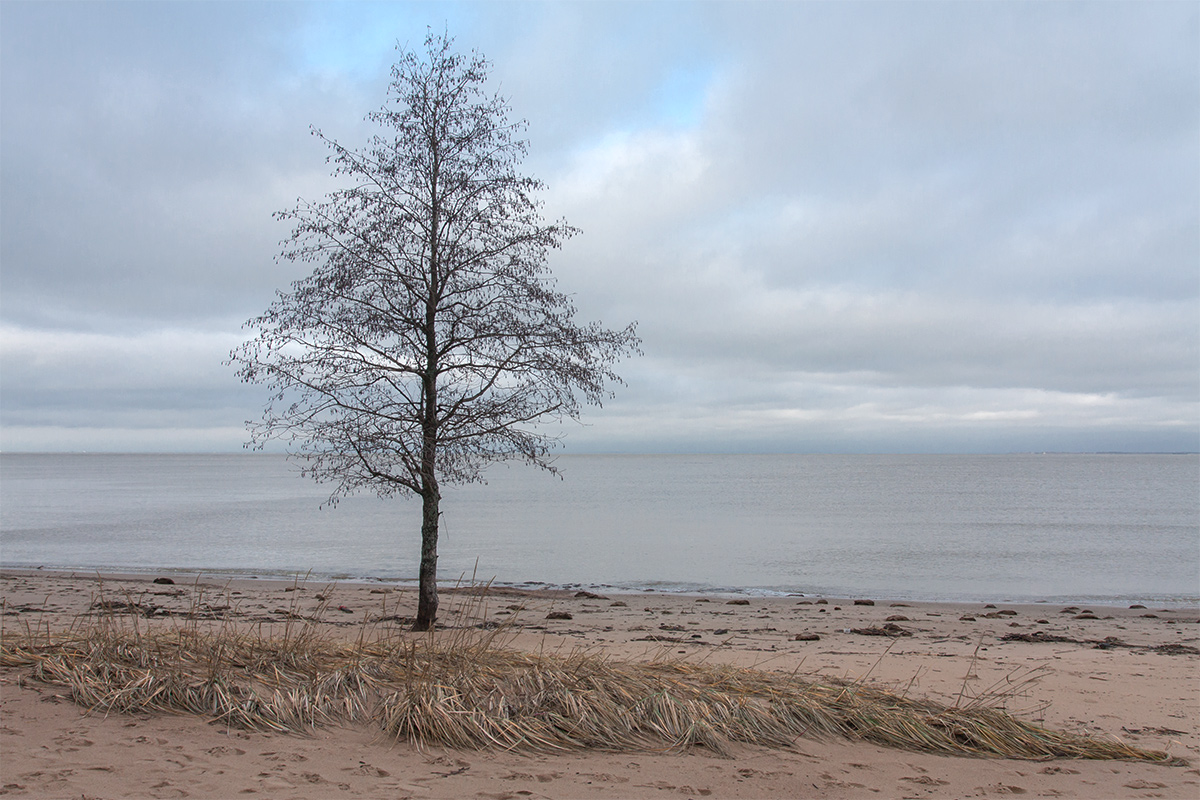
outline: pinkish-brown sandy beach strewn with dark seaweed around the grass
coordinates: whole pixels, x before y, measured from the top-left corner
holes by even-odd
[[[281,626],[331,637],[398,628],[415,593],[385,583],[0,573],[6,634],[96,614]],[[102,607],[100,603],[108,603]],[[506,648],[679,658],[859,681],[946,705],[992,697],[1051,729],[1168,751],[1186,765],[935,756],[800,738],[726,756],[416,747],[367,726],[307,735],[176,714],[88,712],[65,686],[0,670],[0,794],[32,798],[1200,798],[1196,608],[889,603],[660,593],[445,591],[437,636],[496,631]],[[888,626],[893,626],[890,630]],[[890,636],[888,633],[892,633]],[[415,634],[414,634],[415,636]],[[1006,638],[1007,637],[1007,638]]]

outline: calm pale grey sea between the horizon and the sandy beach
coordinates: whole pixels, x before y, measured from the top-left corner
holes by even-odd
[[[440,576],[881,599],[1195,601],[1196,456],[564,456],[443,499]],[[282,457],[0,456],[0,564],[410,579],[416,500]]]

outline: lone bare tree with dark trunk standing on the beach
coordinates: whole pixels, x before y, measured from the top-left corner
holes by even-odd
[[[424,58],[402,53],[365,149],[313,131],[349,186],[276,215],[295,224],[280,258],[316,267],[230,354],[271,392],[252,445],[284,440],[335,503],[420,495],[415,630],[437,618],[439,487],[509,458],[554,471],[558,437],[536,423],[600,404],[640,344],[635,325],[574,321],[545,263],[577,230],[545,224],[542,184],[517,172],[524,122],[485,91],[487,61],[451,44],[431,34]]]

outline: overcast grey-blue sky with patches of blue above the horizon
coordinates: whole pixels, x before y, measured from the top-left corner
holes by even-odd
[[[493,62],[583,319],[568,452],[1194,451],[1194,2],[0,4],[0,449],[232,451],[271,212],[396,43]]]

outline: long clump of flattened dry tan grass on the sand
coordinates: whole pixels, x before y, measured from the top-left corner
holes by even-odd
[[[0,664],[70,687],[102,711],[174,711],[302,732],[371,722],[418,745],[568,751],[787,747],[844,736],[930,753],[1180,763],[1168,753],[1048,730],[986,703],[946,706],[881,688],[686,661],[622,662],[502,646],[503,630],[353,642],[314,618],[275,630],[114,614],[0,636]]]

